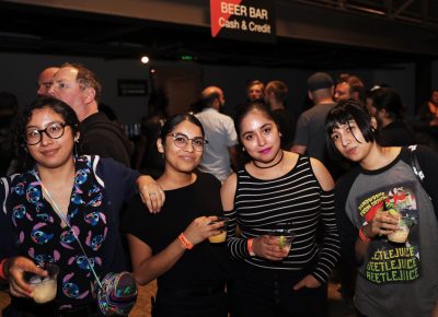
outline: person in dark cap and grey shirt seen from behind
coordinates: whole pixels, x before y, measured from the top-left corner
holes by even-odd
[[[290,149],[295,153],[307,153],[325,166],[327,155],[324,122],[327,113],[335,106],[333,91],[332,77],[325,72],[316,72],[308,79],[308,94],[314,106],[298,118],[293,145]]]

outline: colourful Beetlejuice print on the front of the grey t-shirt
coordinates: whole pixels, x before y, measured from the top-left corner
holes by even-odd
[[[414,184],[408,181],[397,184],[396,187],[378,188],[358,197],[357,211],[361,226],[382,211],[412,224],[406,242],[392,242],[385,235],[372,239],[367,253],[367,265],[360,271],[372,283],[403,283],[420,275],[419,233],[416,225],[419,215],[413,188]]]

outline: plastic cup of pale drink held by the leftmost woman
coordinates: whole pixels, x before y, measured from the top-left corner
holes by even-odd
[[[27,283],[33,289],[32,297],[38,304],[55,300],[57,292],[59,267],[54,263],[45,263],[43,269],[47,271],[47,277],[32,274],[27,280]]]

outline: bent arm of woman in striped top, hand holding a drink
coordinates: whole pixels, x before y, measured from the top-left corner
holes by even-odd
[[[241,238],[237,236],[238,214],[234,209],[234,196],[238,185],[238,176],[230,175],[220,189],[220,197],[226,215],[229,218],[227,226],[227,246],[231,256],[235,259],[251,257],[249,250],[249,240],[251,238]],[[287,256],[287,251],[279,248],[276,239],[269,236],[258,236],[252,238],[252,251],[260,257],[279,261]]]

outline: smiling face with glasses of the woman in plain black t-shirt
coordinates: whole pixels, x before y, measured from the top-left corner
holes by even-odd
[[[192,140],[181,146],[180,138]],[[196,149],[193,142],[200,141],[204,141],[200,128],[188,120],[176,125],[165,137],[165,140],[159,139],[157,145],[159,152],[164,154],[166,172],[192,173],[199,165],[204,153],[204,150]]]

